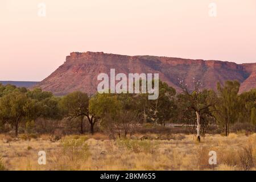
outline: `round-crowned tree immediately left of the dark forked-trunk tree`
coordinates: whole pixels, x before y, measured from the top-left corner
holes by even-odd
[[[63,108],[65,115],[68,115],[68,117],[80,118],[80,133],[83,134],[83,120],[85,116],[89,116],[88,95],[79,91],[69,93],[61,99],[60,105]]]

